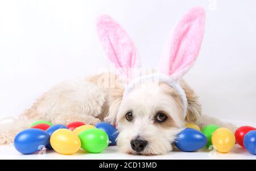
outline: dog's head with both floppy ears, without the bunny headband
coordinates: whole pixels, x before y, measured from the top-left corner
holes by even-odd
[[[188,99],[185,120],[197,122],[201,106],[192,89],[181,81]],[[159,82],[141,84],[123,98],[123,89],[110,93],[106,122],[117,124],[117,145],[122,152],[158,155],[172,150],[176,135],[183,130],[184,116],[180,95],[169,85]]]

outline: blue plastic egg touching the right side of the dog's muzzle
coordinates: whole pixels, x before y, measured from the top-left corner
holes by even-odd
[[[181,151],[193,152],[203,148],[207,144],[207,137],[193,128],[185,128],[177,135],[175,145]]]

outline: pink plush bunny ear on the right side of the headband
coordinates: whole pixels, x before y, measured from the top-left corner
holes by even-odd
[[[188,72],[199,55],[204,24],[205,11],[201,7],[195,7],[183,16],[164,48],[161,73],[179,80]]]

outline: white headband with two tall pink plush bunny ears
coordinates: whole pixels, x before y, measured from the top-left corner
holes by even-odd
[[[126,31],[108,15],[97,22],[97,31],[102,47],[119,76],[127,78],[123,98],[137,84],[157,78],[173,87],[183,102],[183,116],[187,114],[187,97],[179,80],[191,69],[199,55],[204,35],[205,11],[201,7],[191,9],[177,24],[167,39],[160,60],[159,73],[133,78],[133,70],[140,67],[137,50]]]

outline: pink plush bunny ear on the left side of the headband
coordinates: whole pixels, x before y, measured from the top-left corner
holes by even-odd
[[[109,60],[119,74],[131,78],[131,72],[139,66],[138,53],[126,31],[108,15],[97,22],[98,37]]]

